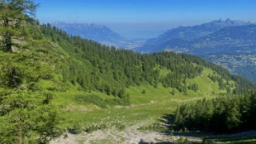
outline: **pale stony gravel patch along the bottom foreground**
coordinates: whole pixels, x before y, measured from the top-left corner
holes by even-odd
[[[165,134],[158,132],[142,132],[137,130],[140,126],[147,125],[148,122],[140,122],[135,125],[128,126],[126,130],[119,131],[115,129],[110,130],[96,130],[91,134],[68,134],[68,138],[57,138],[50,142],[50,144],[69,144],[69,143],[120,143],[133,144],[139,142],[158,142],[159,140],[166,140],[168,137]]]

